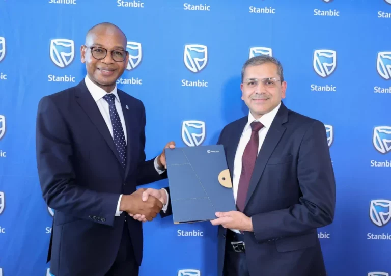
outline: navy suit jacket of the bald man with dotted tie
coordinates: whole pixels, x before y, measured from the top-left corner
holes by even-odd
[[[55,276],[103,275],[117,256],[124,223],[142,262],[142,222],[125,222],[125,212],[115,216],[118,199],[167,175],[157,173],[154,159],[145,160],[143,103],[121,90],[118,96],[127,130],[125,169],[84,80],[39,102],[37,165],[43,198],[55,210],[48,254]],[[161,212],[170,214],[170,207]]]

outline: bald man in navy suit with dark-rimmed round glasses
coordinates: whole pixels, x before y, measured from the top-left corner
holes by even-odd
[[[36,150],[42,195],[55,211],[48,260],[55,276],[138,275],[142,223],[171,214],[167,189],[137,185],[166,178],[163,152],[146,161],[143,103],[117,89],[129,54],[126,36],[101,23],[87,34],[77,86],[43,97]],[[170,142],[166,148],[174,148]]]

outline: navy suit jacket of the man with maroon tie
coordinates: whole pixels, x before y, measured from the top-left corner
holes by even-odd
[[[248,117],[228,124],[224,145],[231,177],[236,148]],[[334,217],[336,190],[324,125],[278,110],[258,154],[244,214],[254,232],[244,232],[251,276],[323,276],[317,228]],[[224,264],[226,229],[218,229],[218,275]]]

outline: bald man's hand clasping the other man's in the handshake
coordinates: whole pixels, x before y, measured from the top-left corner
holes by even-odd
[[[163,208],[163,203],[155,197],[148,197],[143,201],[143,192],[146,189],[141,188],[131,195],[123,195],[120,202],[120,211],[129,214],[142,214],[149,222],[156,217]]]

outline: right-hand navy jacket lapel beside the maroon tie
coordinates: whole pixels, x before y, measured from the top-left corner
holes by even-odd
[[[273,122],[271,123],[270,129],[266,134],[261,150],[258,153],[258,157],[255,162],[254,172],[250,179],[250,184],[247,191],[247,199],[244,208],[247,206],[249,199],[251,198],[255,188],[257,187],[257,184],[262,176],[263,171],[265,170],[265,166],[270,158],[270,155],[273,153],[275,147],[277,146],[278,142],[280,142],[280,139],[286,130],[286,127],[282,124],[287,121],[288,109],[283,103],[281,103],[280,109],[278,109],[278,112],[274,117]]]

